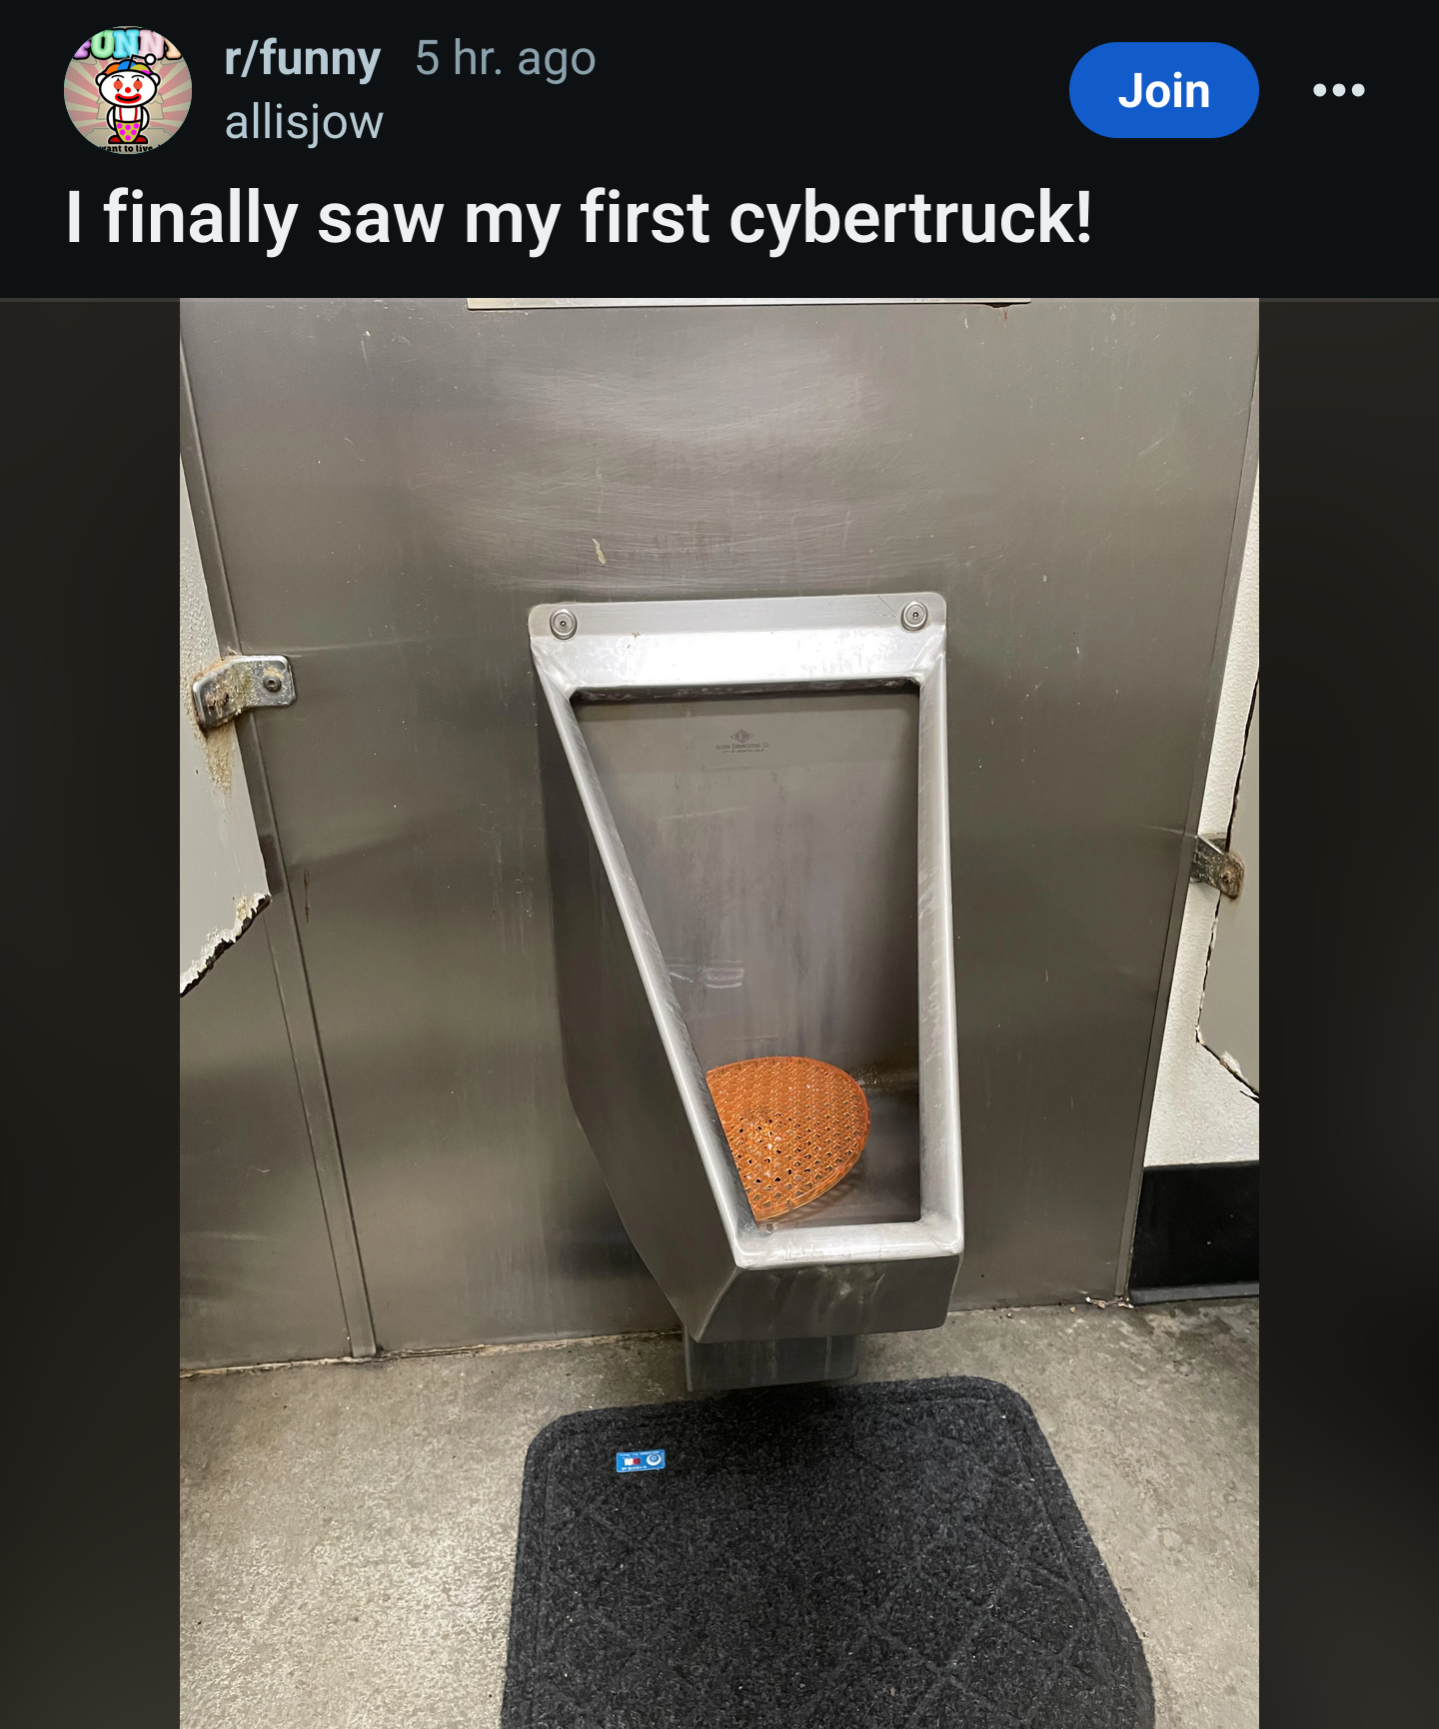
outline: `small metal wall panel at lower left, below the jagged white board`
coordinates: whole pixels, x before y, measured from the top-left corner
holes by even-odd
[[[180,1362],[349,1350],[259,915],[180,998]]]

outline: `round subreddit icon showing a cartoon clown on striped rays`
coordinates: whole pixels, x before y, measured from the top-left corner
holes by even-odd
[[[97,29],[71,55],[66,109],[102,150],[154,150],[190,112],[190,67],[157,29]]]

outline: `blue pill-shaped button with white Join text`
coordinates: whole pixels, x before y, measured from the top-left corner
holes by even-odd
[[[1223,138],[1259,102],[1259,74],[1223,41],[1107,41],[1069,76],[1069,102],[1102,138]]]

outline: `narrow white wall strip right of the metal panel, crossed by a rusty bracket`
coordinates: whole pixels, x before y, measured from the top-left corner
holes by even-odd
[[[1257,679],[1259,484],[1256,481],[1219,692],[1219,716],[1204,782],[1199,818],[1202,835],[1228,832]],[[1145,1165],[1195,1165],[1259,1157],[1259,1100],[1199,1041],[1204,973],[1218,909],[1218,889],[1190,884],[1164,1020]]]

